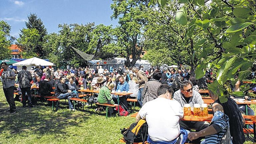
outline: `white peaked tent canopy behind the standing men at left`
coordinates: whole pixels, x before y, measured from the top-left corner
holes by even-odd
[[[37,57],[33,57],[33,58],[30,58],[30,59],[27,59],[27,60],[24,60],[24,61],[20,61],[20,62],[17,62],[17,63],[14,63],[13,66],[17,66],[17,71],[20,71],[21,70],[21,67],[22,66],[27,66],[27,69],[29,70],[32,66],[54,66],[53,63],[51,62],[48,62],[46,60],[43,60],[43,59],[40,59],[40,58],[37,58]]]

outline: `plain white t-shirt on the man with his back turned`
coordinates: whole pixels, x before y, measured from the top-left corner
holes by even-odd
[[[145,103],[139,111],[148,124],[148,134],[153,141],[169,142],[179,136],[179,119],[183,117],[183,108],[177,101],[156,98]]]

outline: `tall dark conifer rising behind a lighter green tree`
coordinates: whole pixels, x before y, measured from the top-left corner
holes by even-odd
[[[35,13],[28,15],[28,21],[25,22],[25,25],[28,29],[37,29],[39,34],[39,41],[37,46],[34,48],[34,52],[38,54],[39,57],[44,58],[46,52],[43,51],[43,38],[47,35],[47,29],[45,28],[43,21],[37,17]],[[21,37],[21,36],[20,36]]]

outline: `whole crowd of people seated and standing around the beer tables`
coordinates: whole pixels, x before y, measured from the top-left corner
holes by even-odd
[[[245,120],[239,106],[232,98],[228,102],[220,103],[218,96],[209,90],[210,97],[214,100],[212,110],[213,121],[196,122],[181,121],[185,104],[203,104],[202,97],[198,93],[202,88],[199,81],[190,75],[189,69],[161,70],[151,67],[149,70],[143,67],[120,67],[115,70],[104,69],[97,66],[96,69],[73,68],[63,70],[45,67],[41,65],[35,69],[27,70],[22,66],[22,71],[16,73],[3,62],[1,63],[2,82],[6,100],[10,105],[9,113],[15,113],[14,103],[15,83],[19,84],[18,91],[22,95],[23,107],[33,107],[31,87],[39,89],[35,91],[41,97],[55,96],[59,99],[68,99],[69,109],[74,110],[72,97],[79,98],[78,90],[93,88],[98,89],[98,102],[102,104],[117,105],[117,97],[111,91],[130,92],[131,95],[120,97],[120,103],[128,107],[127,97],[137,98],[141,109],[136,116],[136,121],[146,119],[148,124],[148,139],[151,144],[185,143],[188,140],[200,143],[233,143],[241,144],[245,141],[243,125]],[[212,71],[207,70],[203,81],[211,79]],[[208,77],[208,78],[207,78]],[[17,80],[15,80],[17,79]],[[53,91],[54,94],[51,92]],[[237,90],[237,89],[236,89]],[[218,93],[218,92],[217,92]],[[115,111],[109,108],[110,114]],[[196,132],[190,132],[195,129]]]

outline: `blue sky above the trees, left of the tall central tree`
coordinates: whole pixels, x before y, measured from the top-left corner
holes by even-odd
[[[0,20],[11,25],[11,35],[18,38],[27,15],[36,13],[48,33],[58,32],[58,24],[95,22],[116,26],[111,21],[111,0],[0,0]]]

